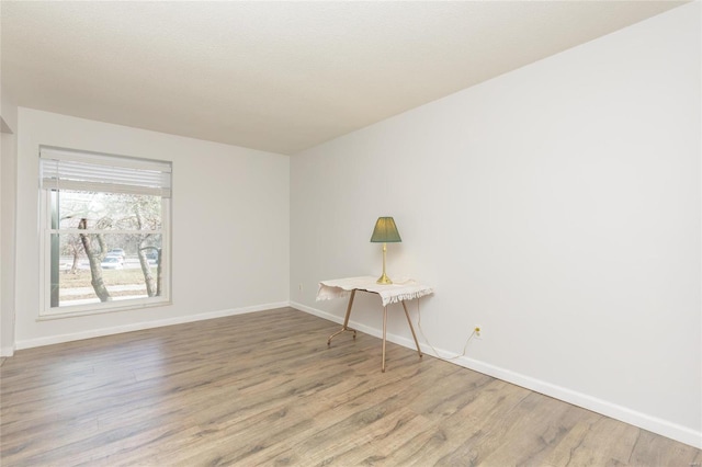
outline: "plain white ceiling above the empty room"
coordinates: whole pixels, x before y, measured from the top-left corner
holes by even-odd
[[[0,3],[21,106],[293,155],[671,1]]]

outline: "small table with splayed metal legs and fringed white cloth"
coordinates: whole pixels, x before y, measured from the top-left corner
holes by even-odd
[[[419,342],[417,341],[417,334],[412,327],[412,321],[409,319],[409,312],[407,311],[407,305],[405,300],[411,300],[415,298],[423,297],[424,295],[433,294],[433,288],[419,284],[412,280],[397,281],[393,284],[378,284],[376,277],[362,276],[362,277],[348,277],[337,278],[331,281],[321,281],[319,283],[319,289],[317,291],[317,300],[329,300],[332,298],[340,298],[349,296],[349,305],[347,306],[347,315],[343,318],[343,326],[333,334],[329,335],[327,345],[331,345],[331,340],[338,334],[350,331],[353,332],[353,339],[355,339],[355,329],[349,328],[349,317],[351,316],[351,307],[353,306],[353,298],[356,291],[369,292],[371,294],[377,294],[383,303],[383,363],[381,371],[385,373],[385,337],[387,330],[387,306],[390,304],[403,304],[405,309],[405,316],[409,323],[409,329],[412,331],[412,338],[417,345],[417,352],[419,356],[422,356],[421,349],[419,349]]]

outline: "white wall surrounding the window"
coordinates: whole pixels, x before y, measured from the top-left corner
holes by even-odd
[[[288,304],[290,158],[20,107],[18,349]],[[173,162],[172,305],[37,321],[38,147]]]

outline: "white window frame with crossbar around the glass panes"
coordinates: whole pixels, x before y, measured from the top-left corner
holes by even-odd
[[[63,149],[63,148],[54,148],[54,147],[41,147],[39,148],[39,158],[42,158],[42,150],[47,150],[49,152],[65,152],[65,153],[77,153],[79,156],[88,155],[91,158],[109,158],[112,161],[122,161],[124,160],[126,163],[132,163],[134,161],[140,162],[144,161],[155,162],[157,164],[168,164],[169,170],[172,172],[172,162],[170,161],[158,161],[152,160],[149,161],[147,159],[136,159],[127,156],[115,156],[115,155],[104,155],[97,152],[84,152],[72,149]],[[169,174],[170,178],[170,174]],[[115,234],[115,235],[124,235],[124,234],[137,234],[144,232],[144,230],[136,229],[75,229],[75,228],[60,228],[60,226],[53,225],[53,216],[55,213],[55,207],[53,206],[55,200],[57,200],[58,194],[60,192],[60,186],[56,189],[47,187],[44,181],[39,181],[39,320],[45,319],[56,319],[56,318],[65,318],[65,317],[73,317],[73,316],[89,316],[89,315],[100,315],[105,312],[114,312],[114,311],[126,311],[126,310],[137,310],[149,307],[161,307],[171,305],[171,193],[170,193],[170,181],[168,186],[168,195],[160,195],[161,200],[161,227],[158,230],[150,230],[152,234],[158,234],[161,236],[161,251],[162,254],[160,257],[161,261],[161,295],[156,297],[139,297],[139,298],[126,298],[126,299],[115,299],[110,301],[97,301],[91,304],[79,304],[79,305],[66,305],[66,306],[56,306],[52,307],[52,287],[53,287],[53,258],[52,258],[52,237],[54,235],[65,235],[65,234]],[[76,191],[75,187],[66,187],[65,190]],[[81,191],[81,190],[78,190]],[[110,190],[83,190],[83,191],[93,191],[101,193],[110,193]],[[139,194],[139,193],[133,193]],[[154,194],[154,193],[141,193],[141,194]],[[59,272],[60,274],[60,272]]]

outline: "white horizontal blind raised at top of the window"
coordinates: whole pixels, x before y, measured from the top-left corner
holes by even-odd
[[[43,147],[44,190],[79,190],[171,196],[171,163]]]

